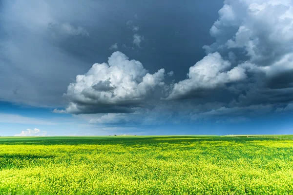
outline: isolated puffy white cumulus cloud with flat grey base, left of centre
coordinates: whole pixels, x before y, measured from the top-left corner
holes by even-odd
[[[70,83],[64,97],[67,113],[132,113],[158,86],[164,85],[165,70],[147,73],[142,63],[114,52],[108,63],[95,63]]]

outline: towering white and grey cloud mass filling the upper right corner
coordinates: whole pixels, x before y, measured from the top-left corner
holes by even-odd
[[[198,98],[208,90],[238,106],[293,100],[293,1],[226,0],[210,28],[207,56],[172,85],[167,99]]]

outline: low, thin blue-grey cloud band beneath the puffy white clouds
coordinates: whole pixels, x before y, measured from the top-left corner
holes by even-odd
[[[246,122],[251,118],[264,116],[275,111],[272,104],[235,106],[231,103],[211,102],[194,104],[192,102],[162,102],[135,113],[81,114],[75,117],[85,119],[91,124],[105,125],[158,125],[188,124],[195,121],[207,122]]]

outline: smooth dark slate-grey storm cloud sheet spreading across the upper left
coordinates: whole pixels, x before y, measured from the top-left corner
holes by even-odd
[[[193,51],[203,55],[201,46],[195,44],[202,39],[190,38],[206,32],[215,20],[218,8],[208,4],[155,0],[1,1],[0,100],[60,107],[64,105],[62,94],[76,75],[87,72],[95,62],[106,61],[113,43],[133,45],[135,33],[144,36],[144,41],[135,39],[141,52],[121,46],[127,56],[142,60],[152,73],[167,64],[168,72],[177,71],[172,79],[182,78],[186,73],[177,64],[184,62],[187,69],[190,57],[197,59]],[[217,5],[220,7],[221,2]],[[214,13],[205,23],[196,19],[205,15],[202,7]],[[131,29],[126,25],[128,20],[133,21]],[[211,42],[209,35],[203,39]],[[18,93],[14,93],[16,89]]]

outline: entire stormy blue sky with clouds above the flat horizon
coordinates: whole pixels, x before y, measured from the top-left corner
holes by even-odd
[[[293,134],[292,0],[1,0],[0,136]]]

